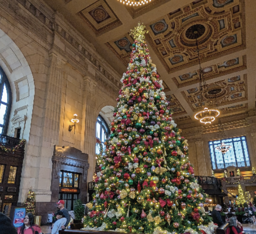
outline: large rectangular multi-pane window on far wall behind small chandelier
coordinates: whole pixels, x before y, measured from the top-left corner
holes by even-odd
[[[231,150],[224,155],[215,149],[215,147],[220,146],[221,143],[232,146]],[[246,167],[251,165],[246,137],[210,141],[209,149],[213,169],[223,169],[233,165],[236,167]]]

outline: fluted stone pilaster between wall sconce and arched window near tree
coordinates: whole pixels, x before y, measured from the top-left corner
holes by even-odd
[[[95,146],[96,146],[96,119],[95,114],[96,107],[96,94],[95,84],[88,78],[84,80],[84,105],[83,105],[83,123],[82,133],[84,134],[82,139],[81,148],[83,152],[88,154],[89,168],[87,171],[87,181],[92,180],[92,175],[95,170]]]

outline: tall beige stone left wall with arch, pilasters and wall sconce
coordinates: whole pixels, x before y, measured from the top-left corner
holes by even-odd
[[[88,154],[92,179],[96,117],[104,106],[116,105],[120,76],[41,0],[0,0],[0,66],[13,97],[7,135],[21,126],[26,140],[19,203],[32,188],[37,202],[54,204],[54,146]],[[75,113],[76,134],[68,131]]]

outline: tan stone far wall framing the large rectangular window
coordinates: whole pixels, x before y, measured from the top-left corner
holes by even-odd
[[[246,114],[223,117],[222,125],[227,138],[246,136],[251,166],[256,167],[255,111],[249,111]],[[207,126],[183,124],[178,127],[182,130],[181,135],[188,139],[189,159],[191,163],[194,164],[195,175],[211,176],[212,165],[208,142],[219,140],[218,122]]]

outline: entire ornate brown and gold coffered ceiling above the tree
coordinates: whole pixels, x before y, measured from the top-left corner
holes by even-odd
[[[141,7],[118,0],[45,1],[85,36],[120,78],[132,50],[130,29],[144,23],[151,57],[180,124],[194,121],[198,111],[195,29],[205,95],[216,97],[223,116],[255,108],[255,0],[152,0]]]

